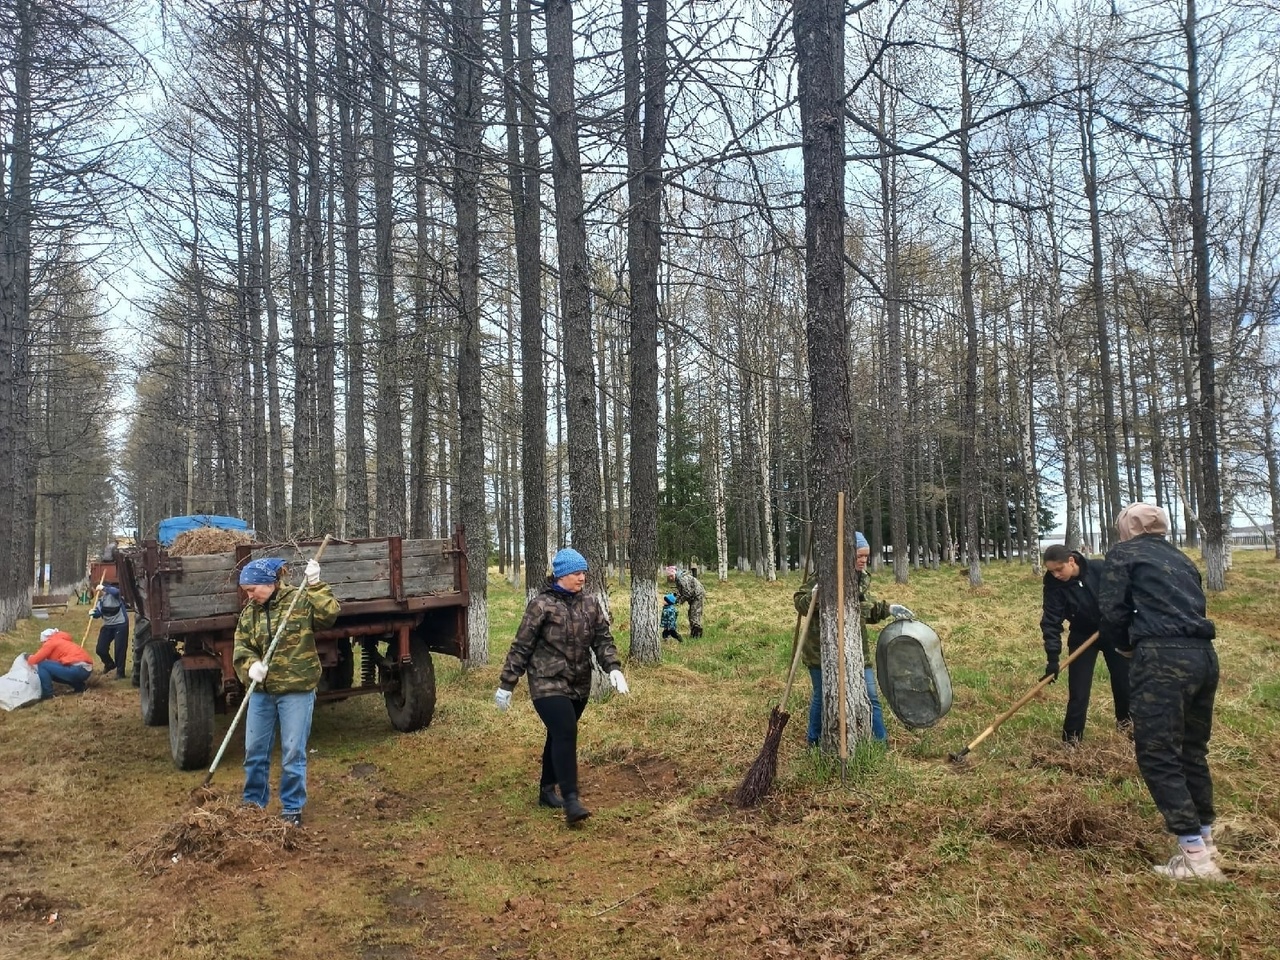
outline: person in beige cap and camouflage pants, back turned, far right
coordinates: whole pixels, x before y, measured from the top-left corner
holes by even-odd
[[[1213,844],[1208,740],[1217,692],[1213,621],[1196,564],[1169,540],[1169,515],[1133,503],[1116,517],[1098,609],[1116,646],[1130,650],[1134,753],[1179,852],[1156,867],[1170,879],[1224,881]]]

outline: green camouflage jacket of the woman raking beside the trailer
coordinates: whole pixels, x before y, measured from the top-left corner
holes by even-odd
[[[265,604],[250,600],[241,611],[232,662],[236,676],[244,686],[248,686],[250,664],[266,655],[266,648],[279,630],[280,617],[289,609],[296,593],[298,588],[280,584]],[[302,589],[284,635],[271,654],[262,690],[269,694],[302,694],[316,689],[320,684],[320,654],[316,653],[312,631],[332,627],[338,620],[338,599],[328,584]]]

